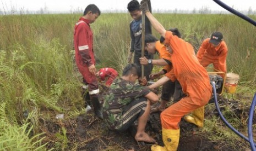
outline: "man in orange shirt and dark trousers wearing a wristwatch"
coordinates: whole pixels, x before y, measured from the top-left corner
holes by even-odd
[[[173,34],[181,37],[181,33],[179,33],[177,28],[172,28],[171,31]],[[166,74],[172,69],[171,54],[168,53],[166,47],[164,44],[162,44],[163,42],[163,37],[161,37],[160,40],[157,40],[154,36],[152,36],[152,34],[146,34],[145,36],[145,50],[150,54],[155,54],[157,52],[160,59],[150,61],[149,59],[146,59],[146,57],[140,57],[140,64],[148,65],[151,63],[152,65],[164,66],[160,72],[150,74],[150,79],[159,78],[160,75]],[[164,111],[166,104],[168,101],[170,101],[171,97],[173,97],[173,102],[175,103],[181,100],[184,94],[182,92],[182,88],[177,87],[178,85],[179,83],[177,80],[174,80],[173,82],[172,80],[168,80],[168,82],[162,86],[161,104],[155,108],[152,108],[151,113]]]

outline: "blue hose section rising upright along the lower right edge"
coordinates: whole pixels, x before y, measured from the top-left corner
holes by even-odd
[[[252,132],[253,113],[254,113],[255,105],[256,105],[256,93],[253,97],[252,105],[250,106],[249,120],[248,120],[248,137],[249,137],[249,142],[250,142],[250,148],[252,148],[253,151],[256,150],[254,143],[253,143],[253,132]]]

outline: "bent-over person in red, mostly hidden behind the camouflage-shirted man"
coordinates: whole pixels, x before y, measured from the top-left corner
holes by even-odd
[[[107,78],[106,86],[109,87],[112,84],[113,80],[115,80],[118,76],[118,73],[113,68],[101,68],[100,71],[96,73],[96,75],[97,77],[100,77],[102,81],[105,81],[105,79]]]

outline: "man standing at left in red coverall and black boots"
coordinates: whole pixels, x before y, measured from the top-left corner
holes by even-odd
[[[90,101],[94,107],[94,113],[102,119],[101,106],[98,99],[99,88],[96,78],[94,50],[92,48],[93,34],[90,28],[98,16],[100,9],[95,4],[88,5],[84,15],[74,27],[75,62],[79,72],[83,75],[84,83],[88,84]]]

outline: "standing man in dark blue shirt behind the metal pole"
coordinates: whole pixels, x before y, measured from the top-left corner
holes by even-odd
[[[151,4],[150,1],[148,1],[149,10],[151,12]],[[134,53],[134,59],[133,63],[136,63],[140,68],[140,61],[139,58],[141,57],[141,38],[142,38],[142,13],[140,10],[140,4],[137,0],[132,0],[128,3],[127,9],[130,13],[130,16],[132,16],[133,21],[130,22],[130,53],[128,56],[128,63],[131,62],[133,53]],[[145,17],[145,34],[151,34],[151,24],[149,22],[149,19]],[[154,55],[149,54],[148,52],[145,52],[145,57],[147,59],[154,59]],[[149,75],[152,72],[152,65],[146,65],[144,66],[144,75],[147,80],[149,80]]]

